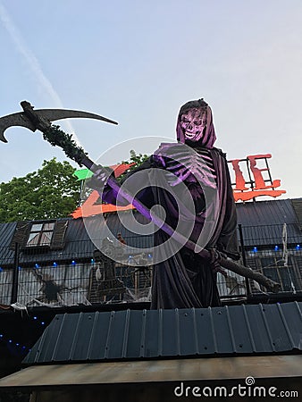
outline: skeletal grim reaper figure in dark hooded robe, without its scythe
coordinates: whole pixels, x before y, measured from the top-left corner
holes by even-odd
[[[133,196],[174,230],[172,236],[155,230],[151,308],[219,306],[217,255],[239,258],[227,161],[214,147],[212,111],[203,99],[181,106],[176,131],[178,143],[161,144],[123,180]],[[90,187],[99,190],[106,177],[96,172]],[[108,203],[123,204],[106,184],[100,194]],[[210,262],[198,255],[203,247],[213,255]]]

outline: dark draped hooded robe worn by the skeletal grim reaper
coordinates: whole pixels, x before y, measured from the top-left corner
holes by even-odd
[[[138,191],[137,197],[148,208],[161,205],[166,215],[165,222],[173,229],[181,222],[182,226],[178,230],[194,243],[201,244],[206,249],[216,249],[231,258],[238,259],[237,219],[231,180],[225,155],[221,150],[213,147],[215,134],[209,108],[208,120],[204,136],[206,144],[201,142],[194,144],[194,147],[188,147],[184,144],[185,140],[181,137],[178,124],[179,143],[162,144],[154,155],[150,156],[138,169],[130,172],[124,181],[126,180],[126,187],[132,194],[137,193],[136,188],[143,188]],[[202,170],[205,162],[200,156],[203,152],[206,152],[206,157],[211,160],[211,167],[214,168],[214,189],[211,186],[205,188],[198,185],[198,181],[203,180]],[[167,184],[169,174],[164,172],[173,169],[173,166],[178,166],[178,163],[175,164],[173,160],[189,160],[189,158],[195,161],[194,174],[181,180],[182,189],[181,185],[171,187]],[[188,165],[183,172],[186,172],[186,169],[189,169]],[[194,166],[192,169],[194,170]],[[137,172],[142,174],[134,174]],[[197,180],[194,180],[194,176]],[[193,180],[190,177],[193,177]],[[184,186],[189,192],[183,190]],[[173,191],[177,192],[179,187],[180,192],[176,202]],[[188,194],[194,203],[194,214],[192,208],[188,207]],[[115,195],[108,186],[105,187],[102,197],[106,202],[115,204]],[[122,205],[121,201],[119,205]],[[208,224],[211,209],[213,209],[214,219]],[[188,225],[188,233],[186,225]],[[206,229],[206,225],[210,228],[209,230]],[[154,239],[155,265],[151,308],[219,306],[220,297],[216,286],[214,264],[205,262],[185,244],[180,247],[178,240],[171,239],[164,230],[156,230]],[[168,257],[165,258],[165,255]]]

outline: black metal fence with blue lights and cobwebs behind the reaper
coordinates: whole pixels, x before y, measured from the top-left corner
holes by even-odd
[[[301,236],[296,227],[240,227],[239,239],[241,264],[279,282],[282,293],[302,291]],[[125,240],[128,244],[134,241]],[[91,241],[70,242],[69,254],[0,247],[0,304],[55,307],[150,301],[149,248],[147,253],[134,255],[133,248],[122,247],[120,263],[110,269],[105,269],[104,261],[96,261],[94,248]],[[217,286],[222,299],[267,292],[255,281],[228,271],[218,272]]]

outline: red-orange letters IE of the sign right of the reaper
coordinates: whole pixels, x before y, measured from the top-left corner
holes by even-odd
[[[281,186],[281,180],[272,179],[267,162],[271,157],[271,154],[248,155],[246,159],[229,161],[235,176],[232,182],[235,201],[247,201],[259,196],[279,197],[286,192],[276,189]],[[261,163],[263,167],[259,166]]]

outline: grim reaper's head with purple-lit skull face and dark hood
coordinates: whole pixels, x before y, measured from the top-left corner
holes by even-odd
[[[213,148],[216,140],[212,111],[204,99],[180,107],[176,126],[177,140],[190,147]]]

